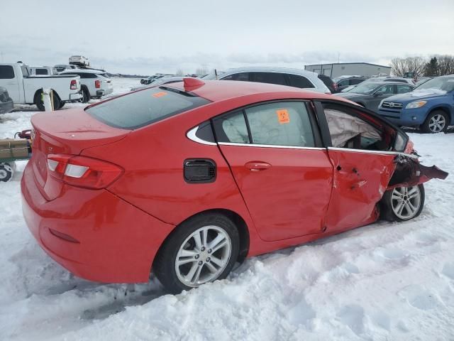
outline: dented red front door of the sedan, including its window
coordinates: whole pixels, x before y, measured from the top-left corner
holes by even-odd
[[[320,102],[316,108],[321,129],[328,131],[323,136],[329,140],[328,156],[334,168],[328,232],[374,222],[377,202],[395,169],[391,146],[395,130],[360,107]]]

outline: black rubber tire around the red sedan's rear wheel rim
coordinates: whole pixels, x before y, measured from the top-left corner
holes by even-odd
[[[228,276],[233,266],[235,265],[235,262],[238,259],[240,245],[240,237],[238,234],[238,229],[236,228],[235,224],[233,224],[233,222],[226,216],[217,213],[206,213],[192,217],[186,222],[180,224],[172,232],[172,234],[170,234],[170,236],[167,237],[165,242],[162,244],[160,250],[157,252],[155,261],[153,262],[152,269],[153,273],[170,293],[180,293],[183,290],[190,290],[196,286],[200,286],[201,284],[203,284],[194,283],[194,285],[192,286],[187,286],[179,279],[179,276],[177,275],[177,269],[175,266],[180,247],[184,247],[184,245],[189,244],[189,242],[191,242],[192,239],[187,240],[187,238],[191,236],[194,232],[196,232],[198,229],[201,229],[203,227],[219,228],[223,230],[223,232],[226,232],[226,234],[228,234],[228,237],[230,237],[231,241],[230,255],[228,256],[228,260],[226,260],[227,263],[225,268],[223,268],[221,274],[218,274],[216,278],[213,278],[209,281],[216,281],[218,279],[226,278],[226,276]],[[208,242],[210,242],[209,236],[207,237],[207,239],[209,239]],[[209,243],[206,244],[209,245]],[[209,251],[210,250],[206,250],[206,252]],[[221,249],[214,251],[213,254],[211,254],[211,256],[214,256],[218,251],[221,251]],[[192,256],[190,258],[192,259]],[[201,266],[201,271],[206,271],[206,274],[210,275],[210,273],[208,272],[209,270],[208,266],[205,266],[206,264],[200,261],[200,259],[204,259],[204,257],[200,256],[199,258],[199,256],[197,255],[194,256],[194,259],[199,259],[199,261],[191,261],[192,264],[188,263],[185,264],[184,266],[191,267],[194,264],[197,267]],[[206,261],[209,262],[210,261],[209,258],[206,259]],[[200,264],[200,262],[202,264]],[[221,271],[221,269],[222,268],[220,267],[218,271]],[[184,270],[182,272],[184,272]]]

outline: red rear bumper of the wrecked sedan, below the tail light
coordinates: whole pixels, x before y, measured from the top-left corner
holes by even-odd
[[[72,274],[106,283],[148,281],[153,259],[174,226],[108,190],[66,185],[47,201],[28,163],[21,181],[23,217],[40,246]]]

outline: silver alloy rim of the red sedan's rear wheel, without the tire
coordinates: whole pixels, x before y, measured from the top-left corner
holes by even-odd
[[[221,227],[210,225],[196,229],[182,243],[175,259],[179,281],[189,287],[215,281],[231,257],[232,242]]]

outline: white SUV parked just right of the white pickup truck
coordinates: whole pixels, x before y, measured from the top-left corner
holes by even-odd
[[[80,77],[82,102],[87,103],[91,98],[101,98],[114,91],[111,79],[106,72],[94,69],[65,70],[60,75],[77,75]]]

